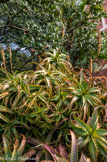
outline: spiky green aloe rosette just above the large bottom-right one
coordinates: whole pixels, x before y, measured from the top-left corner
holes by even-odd
[[[94,108],[100,103],[99,88],[90,86],[90,84],[84,80],[82,70],[80,72],[79,81],[75,78],[72,82],[67,80],[67,83],[69,86],[64,89],[70,90],[69,98],[71,98],[71,102],[68,106],[72,108],[73,104],[77,103],[80,111],[83,111],[83,121],[85,121],[89,107],[92,106]]]

